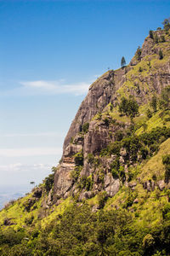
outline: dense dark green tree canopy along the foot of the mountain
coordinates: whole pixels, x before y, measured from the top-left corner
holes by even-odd
[[[75,202],[45,230],[1,231],[1,255],[167,255],[169,205],[162,209],[161,225],[139,229],[126,209],[92,212]]]

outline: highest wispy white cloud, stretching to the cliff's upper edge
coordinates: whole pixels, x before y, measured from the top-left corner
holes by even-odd
[[[84,95],[88,92],[91,82],[67,84],[65,80],[59,81],[20,81],[13,90],[0,91],[0,96],[38,96],[38,95],[59,95],[72,94],[75,96]]]

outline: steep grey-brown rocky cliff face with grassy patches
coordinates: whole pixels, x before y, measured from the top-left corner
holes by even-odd
[[[162,37],[162,32],[157,37]],[[159,52],[163,53],[160,59]],[[113,177],[111,164],[116,155],[102,156],[102,149],[116,140],[116,134],[132,125],[130,119],[114,119],[122,96],[134,96],[139,106],[149,104],[153,94],[160,94],[170,84],[170,38],[156,43],[146,38],[139,53],[127,67],[108,71],[88,91],[65,137],[63,156],[54,176],[54,202],[68,195],[78,195],[79,200],[90,198],[99,191],[108,196],[117,193],[122,180]],[[141,114],[143,115],[143,114]],[[82,158],[77,164],[76,159]],[[119,162],[125,170],[127,152],[122,148]],[[130,160],[129,160],[130,161]],[[83,184],[83,185],[82,185]]]

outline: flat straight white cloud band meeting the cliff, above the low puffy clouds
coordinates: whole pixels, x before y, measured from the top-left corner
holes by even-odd
[[[1,157],[62,154],[62,148],[0,148]]]

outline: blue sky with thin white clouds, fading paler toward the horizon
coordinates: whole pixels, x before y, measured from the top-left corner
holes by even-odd
[[[0,185],[41,182],[88,86],[127,63],[170,2],[0,1]]]

